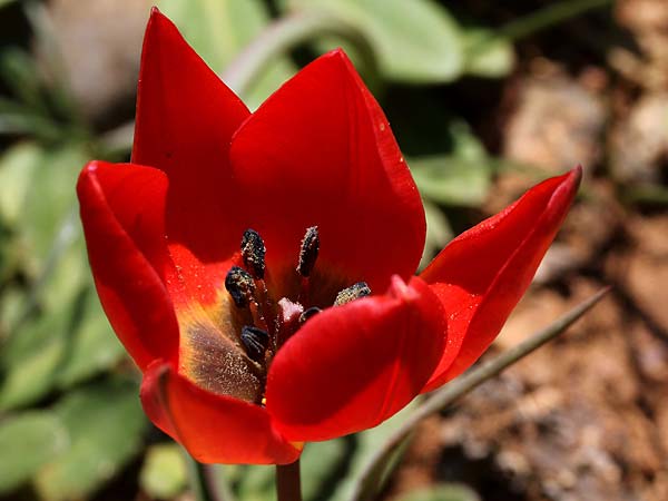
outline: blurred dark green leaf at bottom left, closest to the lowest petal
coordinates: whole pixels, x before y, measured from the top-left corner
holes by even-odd
[[[146,419],[132,381],[115,379],[67,394],[53,406],[70,446],[36,479],[42,499],[81,499],[116,475],[139,452]]]

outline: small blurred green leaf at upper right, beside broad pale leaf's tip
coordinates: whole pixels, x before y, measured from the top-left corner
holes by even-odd
[[[482,27],[463,29],[465,71],[477,77],[500,78],[512,71],[514,51],[512,43],[494,31]]]

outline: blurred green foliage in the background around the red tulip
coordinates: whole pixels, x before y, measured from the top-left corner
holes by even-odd
[[[577,3],[583,11],[605,2]],[[219,72],[277,19],[321,12],[353,26],[373,49],[377,68],[364,77],[395,117],[395,134],[424,197],[426,257],[451,237],[451,222],[482,204],[495,169],[508,167],[440,96],[462,79],[509,76],[513,37],[542,28],[542,18],[529,14],[504,31],[436,0],[157,4]],[[552,22],[577,12],[556,11]],[[47,61],[49,78],[38,68],[29,47],[50,43],[43,16],[42,2],[0,1],[0,19],[21,18],[29,28],[27,37],[0,48],[0,498],[120,499],[141,490],[144,499],[174,499],[188,489],[188,462],[141,412],[139,375],[99,306],[77,217],[79,170],[91,158],[127,158],[130,137],[81,118],[57,58]],[[317,36],[273,60],[243,97],[257,107],[301,65],[336,46],[362,61],[350,39]],[[399,105],[392,95],[402,97]],[[303,461],[306,500],[345,499],[374,444],[401,420],[399,414],[356,436],[310,444]],[[217,474],[239,499],[273,499],[271,468],[225,466]],[[410,499],[478,497],[441,485]]]

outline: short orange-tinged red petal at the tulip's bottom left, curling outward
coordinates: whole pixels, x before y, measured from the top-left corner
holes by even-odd
[[[206,392],[169,364],[149,367],[140,396],[149,419],[199,462],[286,464],[302,452],[259,405]]]

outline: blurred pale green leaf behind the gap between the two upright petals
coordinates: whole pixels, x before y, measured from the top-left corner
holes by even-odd
[[[157,6],[217,72],[269,22],[261,0],[158,0]],[[277,59],[255,82],[248,96],[242,97],[254,109],[295,71],[287,58]]]

